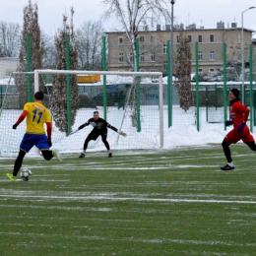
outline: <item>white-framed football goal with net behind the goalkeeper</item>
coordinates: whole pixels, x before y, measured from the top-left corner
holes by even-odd
[[[34,70],[31,77],[32,93],[39,88],[41,90],[43,83],[43,103],[52,115],[53,148],[62,152],[81,152],[93,127],[87,126],[73,135],[69,134],[93,117],[94,111],[127,134],[127,137],[122,137],[108,129],[107,140],[112,150],[163,147],[162,73]],[[17,94],[20,101],[20,93]],[[3,95],[11,97],[8,92]],[[19,151],[25,122],[17,130],[12,130],[12,125],[22,109],[23,105],[12,109],[4,104],[1,108],[0,125],[8,127],[4,128],[8,131],[0,135],[1,156]],[[6,116],[10,117],[8,124]],[[98,137],[90,142],[88,149],[97,151],[105,148]]]

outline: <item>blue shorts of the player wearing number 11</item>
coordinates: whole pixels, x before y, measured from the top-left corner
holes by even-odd
[[[29,152],[33,146],[35,146],[39,150],[48,150],[49,144],[47,136],[45,134],[26,133],[20,145],[21,150]]]

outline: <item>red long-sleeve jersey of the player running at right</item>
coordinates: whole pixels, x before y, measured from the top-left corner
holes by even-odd
[[[248,120],[250,109],[243,105],[240,101],[236,101],[230,108],[230,119],[233,123],[233,128],[238,129],[238,125]]]

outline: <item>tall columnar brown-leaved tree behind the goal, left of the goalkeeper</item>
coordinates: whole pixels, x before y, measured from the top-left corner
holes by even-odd
[[[67,16],[63,15],[63,27],[55,35],[55,47],[57,51],[57,69],[66,70],[66,36],[70,37],[70,69],[76,70],[78,56],[75,48],[75,33],[73,27],[74,10],[71,8],[71,22],[67,24]],[[70,76],[71,88],[71,125],[74,124],[77,109],[79,107],[79,87],[76,76]],[[55,75],[52,79],[51,110],[55,125],[61,132],[67,132],[67,75]]]

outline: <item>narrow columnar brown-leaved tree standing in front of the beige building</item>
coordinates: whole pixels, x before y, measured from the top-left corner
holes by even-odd
[[[179,34],[179,42],[176,48],[175,75],[178,79],[174,83],[178,91],[179,104],[185,111],[189,109],[191,97],[191,47],[188,38]]]

